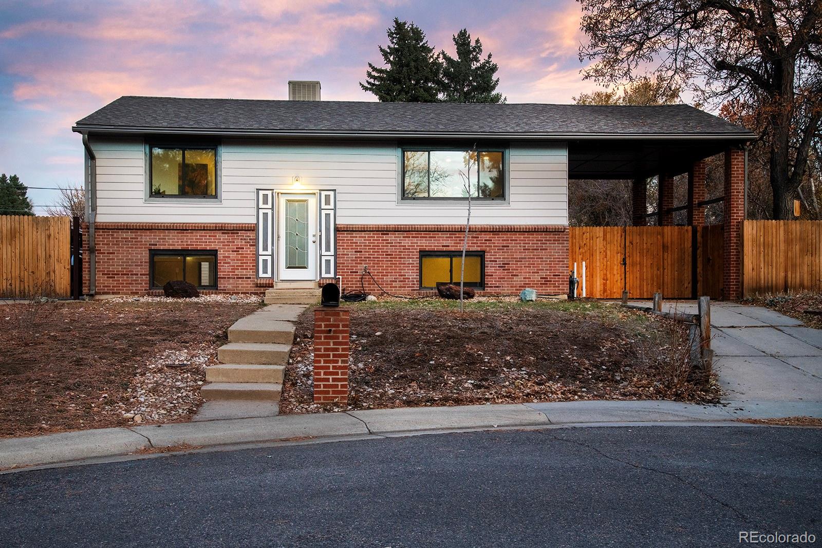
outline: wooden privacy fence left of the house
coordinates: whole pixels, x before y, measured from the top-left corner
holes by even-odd
[[[68,217],[0,215],[0,297],[71,294]]]

